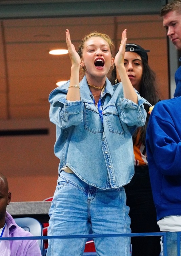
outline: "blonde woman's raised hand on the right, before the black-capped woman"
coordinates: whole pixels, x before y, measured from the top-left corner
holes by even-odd
[[[121,38],[121,44],[119,46],[119,51],[115,56],[114,63],[116,65],[116,68],[119,69],[119,66],[124,66],[124,53],[125,53],[125,47],[126,47],[126,31],[127,29],[124,29],[122,33],[122,38]]]

